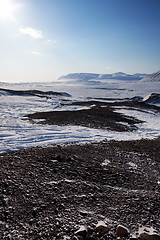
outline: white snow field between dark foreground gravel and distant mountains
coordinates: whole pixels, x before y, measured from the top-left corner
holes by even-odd
[[[36,96],[11,96],[0,95],[0,152],[16,150],[20,148],[50,145],[66,142],[95,142],[107,140],[133,140],[141,138],[154,138],[160,134],[160,116],[153,112],[145,113],[136,110],[118,109],[127,115],[134,116],[144,123],[138,124],[139,130],[133,132],[114,132],[101,129],[91,129],[80,126],[51,126],[31,124],[24,120],[23,116],[29,113],[52,111],[52,110],[77,110],[76,106],[65,106],[61,103],[65,100],[87,100],[89,98],[107,97],[134,97],[141,95],[145,97],[149,92],[154,92],[151,86],[139,86],[137,83],[110,82],[97,86],[72,86],[55,83],[32,83],[32,84],[0,84],[0,87],[7,89],[36,89],[43,91],[67,92],[71,98],[54,97],[40,98]],[[144,83],[140,83],[141,85]],[[154,88],[157,86],[154,85]],[[114,89],[114,90],[111,90]],[[117,90],[116,90],[117,89]],[[122,89],[122,90],[118,90]],[[144,92],[142,91],[144,90]],[[142,93],[143,92],[143,93]],[[140,94],[139,94],[140,93]]]

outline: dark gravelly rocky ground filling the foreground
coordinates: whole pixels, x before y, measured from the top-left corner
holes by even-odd
[[[160,138],[0,154],[0,239],[160,239],[159,156]]]

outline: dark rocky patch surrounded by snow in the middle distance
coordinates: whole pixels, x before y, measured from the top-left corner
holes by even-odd
[[[132,109],[136,111],[160,112],[160,107],[149,105],[138,101],[122,101],[115,103],[108,103],[104,101],[85,101],[85,102],[71,102],[64,104],[64,106],[80,106],[87,107],[87,109],[80,109],[77,111],[51,111],[51,112],[37,112],[26,115],[27,119],[32,123],[51,124],[51,125],[80,125],[90,128],[107,129],[118,132],[133,131],[138,129],[137,124],[141,123],[139,119],[131,116],[126,116],[122,113],[116,112],[116,108]],[[38,121],[40,120],[40,121]]]

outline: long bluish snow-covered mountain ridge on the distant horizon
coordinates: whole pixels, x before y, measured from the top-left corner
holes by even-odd
[[[147,74],[136,73],[133,75],[123,72],[117,72],[112,74],[95,74],[95,73],[69,73],[61,76],[58,80],[62,79],[74,79],[81,81],[100,80],[100,79],[116,79],[116,80],[141,80],[146,77]]]

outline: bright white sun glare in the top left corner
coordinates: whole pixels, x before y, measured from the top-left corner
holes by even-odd
[[[17,6],[10,0],[0,0],[0,18],[11,18],[16,8]]]

